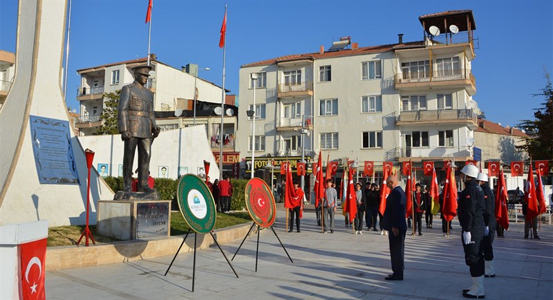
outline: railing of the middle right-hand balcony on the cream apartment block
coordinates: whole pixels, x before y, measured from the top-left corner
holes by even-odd
[[[442,120],[472,120],[476,122],[472,109],[438,109],[435,111],[401,111],[397,122],[430,122]]]

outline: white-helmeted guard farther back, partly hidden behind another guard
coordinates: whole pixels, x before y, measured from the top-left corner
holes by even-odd
[[[488,176],[483,173],[478,173],[476,178],[480,182],[480,187],[484,191],[485,209],[484,209],[484,237],[482,238],[482,252],[484,254],[485,277],[495,277],[496,270],[494,269],[494,248],[491,244],[494,243],[494,232],[496,230],[496,196],[494,191],[489,188]]]

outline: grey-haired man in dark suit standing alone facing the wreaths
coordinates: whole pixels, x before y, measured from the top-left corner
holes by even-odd
[[[391,190],[386,198],[386,210],[384,210],[384,230],[388,230],[388,241],[390,242],[390,256],[392,261],[393,274],[386,277],[386,280],[403,280],[405,233],[407,223],[405,222],[405,206],[407,198],[405,192],[398,185],[397,177],[388,176],[386,186]]]

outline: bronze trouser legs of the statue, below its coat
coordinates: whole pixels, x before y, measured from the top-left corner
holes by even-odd
[[[137,190],[142,191],[148,186],[150,170],[151,138],[133,138],[124,141],[123,151],[123,191],[131,191],[133,180],[133,162],[138,146],[138,184]]]

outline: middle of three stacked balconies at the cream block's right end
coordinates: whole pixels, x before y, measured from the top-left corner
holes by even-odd
[[[474,128],[478,126],[476,113],[472,109],[438,109],[435,111],[400,111],[395,124],[458,124],[468,123]]]

